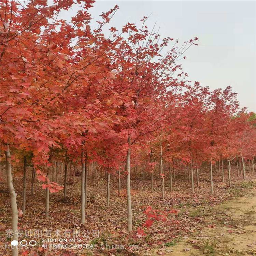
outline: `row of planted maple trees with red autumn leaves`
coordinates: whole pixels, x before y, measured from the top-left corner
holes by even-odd
[[[49,193],[63,189],[67,196],[68,162],[79,166],[82,223],[88,165],[108,174],[108,205],[110,173],[118,172],[120,187],[125,166],[130,231],[131,166],[151,173],[153,186],[153,169],[159,164],[164,198],[166,166],[190,166],[194,192],[193,170],[209,162],[213,193],[212,166],[217,161],[223,169],[224,159],[230,163],[239,157],[244,170],[244,159],[255,156],[255,115],[238,112],[231,87],[210,91],[191,84],[177,64],[198,38],[183,44],[161,39],[147,27],[147,17],[139,27],[127,23],[119,31],[109,25],[117,5],[102,13],[93,29],[93,2],[0,4],[1,154],[5,152],[13,240],[18,212],[12,165],[19,165],[18,159],[24,160],[24,177],[29,159],[33,181],[36,176],[46,190],[46,217]],[[75,4],[81,9],[74,17],[58,19]],[[107,28],[110,35],[105,36]],[[60,171],[57,162],[64,163],[64,188],[54,181],[53,170]],[[16,248],[12,252],[17,255]]]

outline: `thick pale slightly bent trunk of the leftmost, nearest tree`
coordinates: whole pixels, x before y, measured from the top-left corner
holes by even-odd
[[[9,189],[9,194],[11,197],[11,210],[12,210],[12,240],[18,241],[18,207],[16,202],[16,193],[12,183],[12,163],[11,154],[9,150],[9,145],[6,146],[5,153],[5,168],[7,174],[7,184]],[[18,247],[12,246],[12,256],[18,256]]]

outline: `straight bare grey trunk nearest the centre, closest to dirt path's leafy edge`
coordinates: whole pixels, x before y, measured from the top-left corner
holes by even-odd
[[[130,145],[131,139],[128,137],[128,144]],[[127,180],[126,180],[126,193],[127,193],[127,230],[132,230],[132,211],[131,211],[131,184],[130,184],[130,156],[131,156],[131,149],[128,148],[127,156],[126,156],[126,169],[127,169]]]

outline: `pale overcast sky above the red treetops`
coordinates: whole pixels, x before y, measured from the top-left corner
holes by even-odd
[[[190,48],[182,61],[189,79],[211,89],[231,85],[241,107],[256,112],[255,1],[96,1],[89,12],[99,19],[115,4],[120,9],[113,27],[121,29],[128,20],[139,23],[151,14],[148,28],[157,22],[162,38],[184,42],[197,36],[199,46]],[[73,16],[75,9],[66,14]]]

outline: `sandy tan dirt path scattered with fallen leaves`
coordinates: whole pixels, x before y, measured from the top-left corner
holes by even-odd
[[[204,214],[204,209],[199,207],[194,210],[194,214]],[[173,246],[157,248],[145,255],[256,255],[256,188],[248,190],[244,197],[211,208],[205,224],[208,227],[194,236],[185,237]]]

